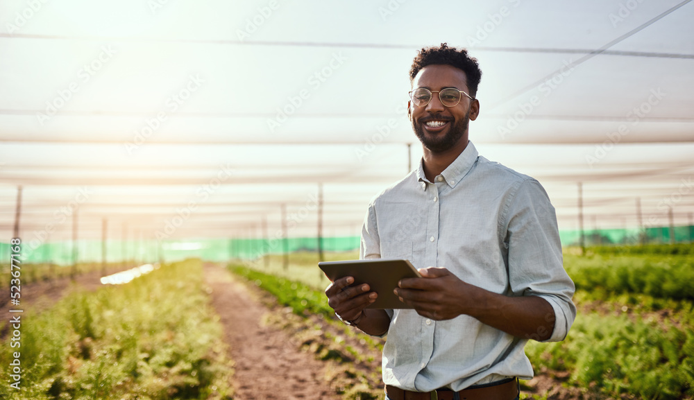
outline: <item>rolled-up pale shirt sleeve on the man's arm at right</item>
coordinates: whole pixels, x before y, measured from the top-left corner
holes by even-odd
[[[539,296],[545,299],[554,315],[554,329],[545,342],[566,338],[576,318],[571,301],[575,286],[564,270],[557,216],[550,199],[536,180],[519,182],[505,207],[509,283],[512,295]],[[503,226],[502,226],[503,228]],[[541,333],[536,337],[537,340]]]

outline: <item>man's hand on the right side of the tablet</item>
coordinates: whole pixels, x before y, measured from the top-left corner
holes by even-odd
[[[403,279],[393,290],[401,302],[414,306],[419,315],[432,320],[450,320],[464,313],[464,304],[469,302],[469,292],[475,286],[446,268],[421,268],[419,273],[421,278]]]

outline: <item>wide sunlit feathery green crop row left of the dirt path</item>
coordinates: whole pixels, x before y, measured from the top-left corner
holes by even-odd
[[[21,346],[10,347],[8,338],[0,350],[2,381],[10,381],[13,352],[21,362],[21,390],[0,385],[1,399],[221,399],[230,392],[230,360],[200,261],[30,311],[17,332]]]

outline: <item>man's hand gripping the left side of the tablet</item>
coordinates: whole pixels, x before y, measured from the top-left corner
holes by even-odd
[[[335,310],[343,320],[355,321],[362,315],[364,308],[376,301],[378,294],[369,292],[369,285],[350,286],[354,283],[353,277],[336,279],[325,288],[328,296],[328,305]]]

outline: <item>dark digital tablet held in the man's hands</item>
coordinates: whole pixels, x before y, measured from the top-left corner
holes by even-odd
[[[369,259],[353,261],[323,261],[318,266],[330,281],[341,277],[354,277],[350,286],[369,284],[371,291],[378,293],[376,301],[366,308],[412,308],[400,302],[393,289],[403,278],[421,277],[407,260]]]

